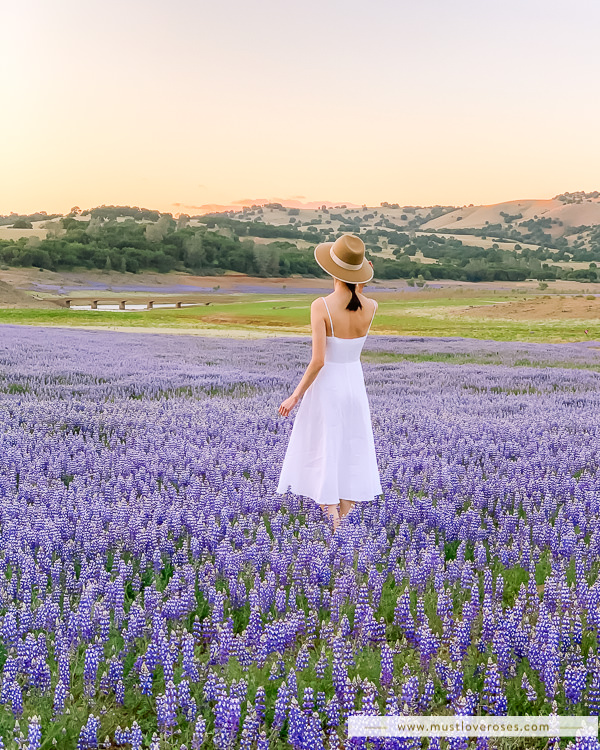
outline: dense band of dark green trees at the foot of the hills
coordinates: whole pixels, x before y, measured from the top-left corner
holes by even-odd
[[[250,235],[249,231],[258,233]],[[254,241],[263,237],[278,239],[268,244]],[[294,239],[307,238],[311,242],[307,249],[301,250],[293,242]],[[463,245],[456,238],[433,234],[411,238],[406,233],[393,231],[388,232],[387,241],[393,248],[394,258],[383,258],[381,247],[375,244],[377,233],[367,232],[364,238],[367,258],[373,262],[375,276],[379,279],[421,276],[424,280],[522,281],[535,278],[540,281],[596,281],[599,278],[595,263],[577,271],[544,263],[545,258],[540,257],[544,254],[542,249],[523,248],[517,252],[500,249],[497,245],[486,249]],[[103,220],[100,216],[91,216],[87,222],[66,217],[50,223],[45,239],[0,239],[0,264],[5,267],[87,268],[131,273],[176,270],[198,275],[219,275],[231,270],[251,276],[300,274],[322,278],[326,274],[316,263],[313,249],[323,239],[293,227],[215,217],[203,217],[199,227],[190,227],[189,222],[181,218],[175,220],[166,214],[147,224],[134,220]],[[595,230],[593,239],[600,242],[600,227]],[[423,263],[415,257],[417,253],[433,258],[437,263]],[[580,254],[584,254],[583,250]],[[586,259],[600,260],[600,251],[592,255],[586,251],[585,256]]]

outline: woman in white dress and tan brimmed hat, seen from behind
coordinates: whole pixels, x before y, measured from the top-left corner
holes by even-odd
[[[311,304],[312,358],[279,407],[287,417],[302,399],[277,492],[291,487],[315,500],[333,517],[335,532],[355,503],[382,493],[360,363],[378,305],[362,294],[373,278],[373,264],[365,260],[360,237],[344,234],[317,245],[315,260],[333,277],[334,291]]]

